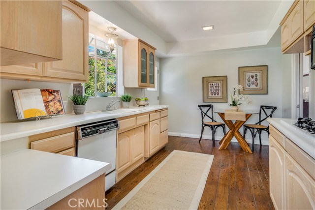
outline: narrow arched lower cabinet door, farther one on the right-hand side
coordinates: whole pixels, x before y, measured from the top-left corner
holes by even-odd
[[[284,209],[284,149],[269,136],[270,197],[276,210]]]

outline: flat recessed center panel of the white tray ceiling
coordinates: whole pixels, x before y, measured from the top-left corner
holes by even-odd
[[[166,43],[266,30],[281,0],[119,0]],[[215,30],[203,31],[202,26]]]

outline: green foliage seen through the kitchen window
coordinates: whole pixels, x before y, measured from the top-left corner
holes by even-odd
[[[97,49],[96,54],[106,57],[107,52]],[[96,59],[96,91],[112,92],[110,96],[116,96],[116,55],[111,54],[107,60],[107,75],[105,71],[105,59]],[[107,76],[107,89],[106,86]],[[89,82],[85,83],[85,94],[95,96],[95,58],[89,57]]]

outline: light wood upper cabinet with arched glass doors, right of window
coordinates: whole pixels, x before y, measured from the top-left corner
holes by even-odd
[[[124,40],[124,86],[155,87],[155,48],[140,39]]]

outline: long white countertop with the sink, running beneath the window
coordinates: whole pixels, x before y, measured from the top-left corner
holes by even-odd
[[[27,137],[39,133],[63,129],[71,126],[95,122],[98,120],[110,120],[115,118],[126,117],[130,115],[141,114],[155,111],[158,109],[168,108],[163,105],[150,105],[142,107],[130,107],[130,109],[141,109],[141,111],[129,112],[124,114],[108,114],[106,112],[91,112],[83,115],[67,114],[62,116],[53,116],[52,118],[42,118],[39,121],[23,120],[4,122],[0,124],[0,141],[7,141],[21,137]]]

